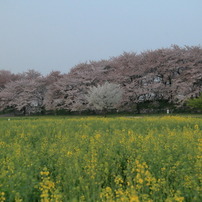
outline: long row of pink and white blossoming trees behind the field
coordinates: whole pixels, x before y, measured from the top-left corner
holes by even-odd
[[[123,53],[78,64],[67,74],[0,70],[0,110],[22,114],[185,109],[201,92],[200,46]]]

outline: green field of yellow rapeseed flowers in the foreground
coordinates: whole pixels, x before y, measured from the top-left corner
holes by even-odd
[[[0,201],[202,201],[202,118],[0,119]]]

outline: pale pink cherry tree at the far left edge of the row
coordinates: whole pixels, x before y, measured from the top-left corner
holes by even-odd
[[[41,112],[44,93],[44,80],[41,77],[11,81],[0,92],[0,108],[12,108],[24,115]]]

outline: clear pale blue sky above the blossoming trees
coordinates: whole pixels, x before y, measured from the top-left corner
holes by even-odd
[[[173,44],[202,45],[202,0],[0,0],[0,70],[68,73]]]

